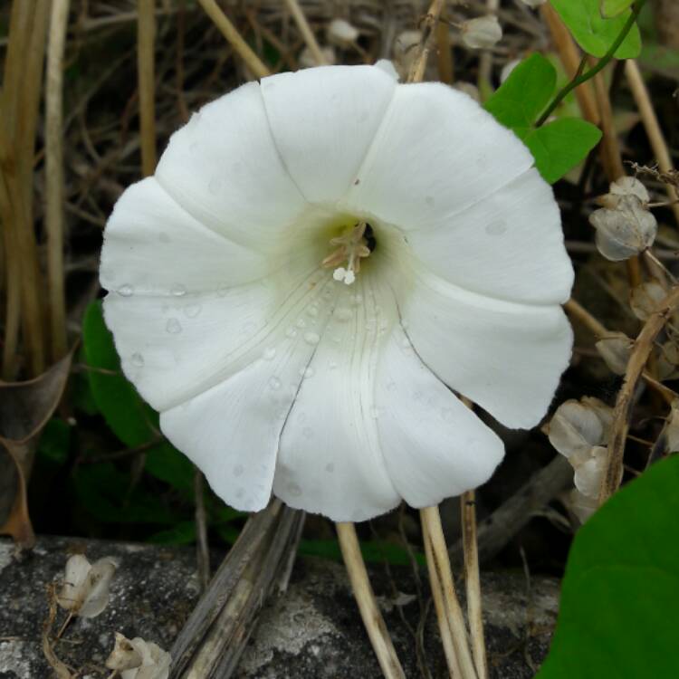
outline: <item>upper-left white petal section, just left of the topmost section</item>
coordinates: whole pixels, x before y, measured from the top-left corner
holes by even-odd
[[[305,208],[256,82],[207,104],[172,135],[156,177],[202,224],[260,250],[273,248]]]

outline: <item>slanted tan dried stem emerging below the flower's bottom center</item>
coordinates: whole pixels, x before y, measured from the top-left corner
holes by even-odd
[[[387,625],[379,612],[375,594],[370,587],[368,571],[360,553],[356,528],[353,523],[349,522],[340,522],[336,525],[339,549],[342,551],[344,564],[349,573],[354,598],[359,605],[360,616],[363,618],[363,624],[368,631],[375,655],[378,656],[382,674],[386,679],[406,679],[403,667],[398,661],[396,649],[391,642]]]

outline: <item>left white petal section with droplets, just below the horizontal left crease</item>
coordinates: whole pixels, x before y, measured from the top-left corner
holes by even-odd
[[[196,397],[278,345],[311,299],[318,273],[222,291],[104,300],[122,369],[157,410]]]

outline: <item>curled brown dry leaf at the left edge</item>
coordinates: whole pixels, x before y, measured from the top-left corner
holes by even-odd
[[[59,404],[73,351],[26,382],[0,382],[0,534],[21,547],[35,540],[26,503],[26,482],[43,426]]]

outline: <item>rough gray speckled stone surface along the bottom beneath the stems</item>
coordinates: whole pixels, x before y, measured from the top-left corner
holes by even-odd
[[[110,674],[103,663],[115,631],[142,636],[168,649],[198,597],[191,549],[42,538],[32,555],[17,561],[11,543],[0,540],[0,679],[53,676],[41,649],[46,591],[75,552],[85,553],[90,560],[120,559],[109,607],[91,620],[74,620],[55,646],[57,655],[80,679]],[[414,636],[408,629],[420,620],[419,603],[412,596],[416,593],[412,571],[392,568],[387,574],[373,567],[370,577],[406,675],[421,676]],[[489,662],[491,675],[498,679],[531,677],[549,645],[558,583],[534,578],[530,596],[527,591],[522,575],[483,577]],[[57,625],[64,617],[60,611]],[[423,641],[432,676],[445,676],[433,609]],[[299,559],[287,593],[264,605],[237,673],[238,679],[379,676],[344,569],[318,559]]]

